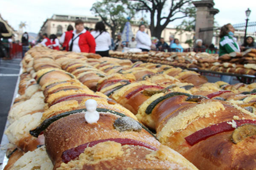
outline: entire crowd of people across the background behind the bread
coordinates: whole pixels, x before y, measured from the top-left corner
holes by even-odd
[[[242,45],[238,45],[235,37],[233,37],[234,34],[232,34],[234,28],[228,30],[230,26],[232,25],[227,24],[221,28],[219,49],[215,48],[213,44],[208,45],[205,44],[203,40],[198,39],[195,40],[192,51],[223,55],[233,51],[245,51],[248,48],[256,48],[256,43],[251,36],[246,37]],[[141,24],[136,36],[132,37],[130,41],[123,41],[121,33],[118,33],[113,41],[113,38],[111,38],[110,34],[107,32],[103,22],[96,23],[95,28],[87,28],[84,27],[82,20],[76,20],[75,28],[69,25],[67,31],[64,32],[59,39],[55,34],[51,34],[49,37],[47,34],[43,34],[39,38],[38,44],[55,50],[90,52],[106,57],[109,56],[109,50],[124,51],[124,49],[129,48],[140,48],[141,51],[191,51],[191,48],[184,49],[179,40],[173,35],[169,36],[169,42],[165,42],[163,37],[159,40],[156,37],[150,37],[145,32],[145,28],[146,26]],[[224,31],[225,33],[223,33],[224,28],[229,32],[226,30],[226,32]],[[0,23],[0,38],[0,57],[10,59],[9,47],[10,42],[12,42],[12,35],[8,34],[8,30],[6,30],[3,23]],[[229,43],[223,46],[222,41]],[[21,44],[24,56],[25,52],[34,45],[29,43],[29,34],[27,32],[22,35]]]

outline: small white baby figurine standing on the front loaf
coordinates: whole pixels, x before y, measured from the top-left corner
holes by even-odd
[[[97,102],[94,99],[88,99],[85,102],[87,112],[85,112],[84,118],[88,123],[97,123],[99,120],[99,112],[96,111]]]

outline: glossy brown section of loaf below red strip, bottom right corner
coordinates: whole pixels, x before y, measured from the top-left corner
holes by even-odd
[[[255,169],[256,135],[234,144],[230,140],[232,132],[211,136],[192,146],[183,156],[200,170]]]

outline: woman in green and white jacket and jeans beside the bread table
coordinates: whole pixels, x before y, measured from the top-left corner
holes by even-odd
[[[219,44],[219,56],[224,54],[229,54],[231,52],[240,52],[240,48],[238,43],[236,42],[236,38],[234,37],[235,28],[230,24],[226,24],[221,27],[221,32],[219,37],[221,38]],[[231,76],[221,75],[221,81],[231,83]]]

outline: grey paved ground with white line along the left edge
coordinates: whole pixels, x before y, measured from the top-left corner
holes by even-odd
[[[12,104],[21,59],[0,60],[0,141],[6,125],[6,118]]]

